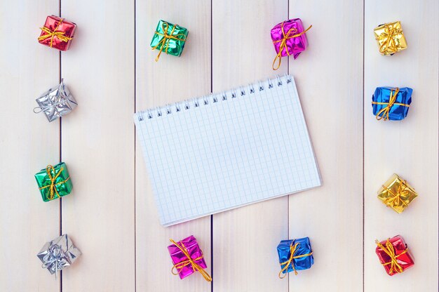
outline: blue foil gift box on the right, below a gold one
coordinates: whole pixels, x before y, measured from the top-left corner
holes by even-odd
[[[372,95],[372,108],[377,120],[400,121],[407,117],[412,92],[409,87],[377,87]]]

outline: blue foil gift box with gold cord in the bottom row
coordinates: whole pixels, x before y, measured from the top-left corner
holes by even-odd
[[[283,240],[278,245],[281,272],[279,278],[285,278],[286,273],[308,270],[314,264],[313,251],[308,237]]]

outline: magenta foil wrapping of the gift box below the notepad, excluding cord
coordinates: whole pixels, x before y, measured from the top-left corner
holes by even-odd
[[[196,242],[196,239],[193,235],[190,237],[187,237],[185,239],[182,239],[182,241],[178,241],[177,244],[179,244],[182,248],[186,248],[189,255],[191,255],[191,259],[194,260],[194,263],[198,264],[200,267],[205,269],[208,267],[205,264],[204,258],[203,258],[203,251],[201,251],[200,246],[198,246],[198,242]],[[177,265],[178,263],[182,263],[184,261],[187,261],[188,258],[184,253],[175,246],[175,244],[171,244],[168,246],[168,251],[170,253],[170,258],[173,260],[174,265]],[[190,274],[193,274],[194,267],[192,265],[184,265],[181,268],[177,268],[178,274],[180,276],[180,279],[183,279]]]

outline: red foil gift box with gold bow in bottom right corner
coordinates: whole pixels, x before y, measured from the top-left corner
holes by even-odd
[[[402,273],[414,265],[407,244],[400,235],[381,242],[376,240],[375,243],[377,244],[375,252],[378,255],[379,262],[390,276]]]

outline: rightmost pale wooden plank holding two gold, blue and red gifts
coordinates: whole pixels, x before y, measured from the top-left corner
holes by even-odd
[[[408,48],[382,56],[373,29],[400,20]],[[438,1],[365,1],[365,291],[438,291]],[[370,105],[377,86],[413,88],[403,121],[377,121]],[[419,197],[402,214],[377,190],[392,173]],[[374,239],[400,234],[414,267],[389,277]]]

